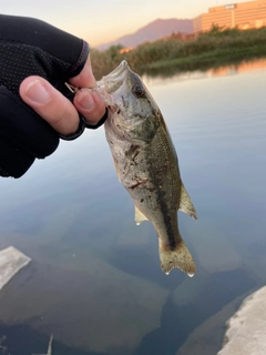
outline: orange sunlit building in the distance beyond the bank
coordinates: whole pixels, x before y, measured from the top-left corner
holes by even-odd
[[[216,24],[242,30],[266,26],[266,0],[229,3],[208,9],[193,20],[194,33],[208,31]]]

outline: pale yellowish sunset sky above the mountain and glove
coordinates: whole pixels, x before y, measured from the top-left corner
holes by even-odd
[[[211,7],[246,1],[0,0],[0,12],[39,18],[96,47],[134,33],[156,19],[193,19]]]

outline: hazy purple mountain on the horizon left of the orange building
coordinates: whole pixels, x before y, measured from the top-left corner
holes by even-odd
[[[171,36],[173,32],[193,33],[193,20],[157,19],[141,28],[133,34],[119,38],[113,42],[99,45],[98,49],[105,50],[111,45],[136,47],[144,42],[154,42],[161,38]]]

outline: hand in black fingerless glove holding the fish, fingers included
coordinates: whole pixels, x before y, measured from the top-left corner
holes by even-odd
[[[0,175],[20,178],[59,136],[74,139],[104,114],[95,92],[66,99],[65,82],[95,85],[88,55],[84,41],[45,22],[0,16]]]

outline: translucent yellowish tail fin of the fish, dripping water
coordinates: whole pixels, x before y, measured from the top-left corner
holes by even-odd
[[[174,250],[164,250],[160,245],[160,261],[162,271],[168,275],[174,267],[178,267],[188,276],[194,276],[196,266],[182,237]]]

